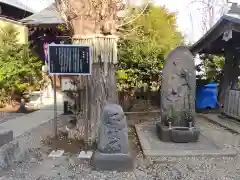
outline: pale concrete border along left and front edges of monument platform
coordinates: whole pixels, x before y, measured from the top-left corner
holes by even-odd
[[[179,150],[179,151],[166,151],[166,150],[152,150],[150,144],[140,131],[142,131],[144,125],[135,125],[138,139],[140,141],[141,148],[145,157],[221,157],[221,156],[236,156],[235,150]]]

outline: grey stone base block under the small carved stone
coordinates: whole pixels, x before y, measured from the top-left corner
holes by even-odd
[[[106,154],[95,151],[92,166],[97,171],[131,171],[134,168],[134,161],[130,153]]]

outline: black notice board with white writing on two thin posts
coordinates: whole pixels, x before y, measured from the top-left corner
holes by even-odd
[[[61,76],[89,76],[91,75],[91,48],[87,45],[49,44],[48,45],[49,74],[53,75],[54,85],[54,133],[57,136],[57,94],[56,75]],[[87,79],[87,77],[86,77]],[[86,81],[86,86],[88,83]],[[88,103],[88,89],[86,87],[86,103]],[[88,107],[88,104],[86,104]],[[85,110],[88,111],[87,109]],[[86,118],[89,116],[85,113]],[[85,122],[85,140],[88,139],[89,123]]]

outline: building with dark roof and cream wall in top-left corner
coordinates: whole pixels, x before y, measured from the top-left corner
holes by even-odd
[[[19,32],[18,42],[26,44],[28,42],[28,29],[19,21],[33,13],[33,10],[18,0],[0,0],[0,28],[12,25]]]

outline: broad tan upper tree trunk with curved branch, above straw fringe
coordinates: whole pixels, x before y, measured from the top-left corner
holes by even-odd
[[[84,21],[84,23],[91,24],[93,26],[92,29],[96,29],[96,33],[97,31],[99,33],[99,29],[105,29],[108,32],[111,30],[115,31],[116,28],[132,23],[144,13],[149,5],[147,2],[143,10],[137,15],[128,16],[125,19],[123,17],[119,18],[119,12],[129,10],[129,1],[130,0],[55,0],[61,17],[70,27],[74,26],[75,20],[82,19],[81,21]]]

